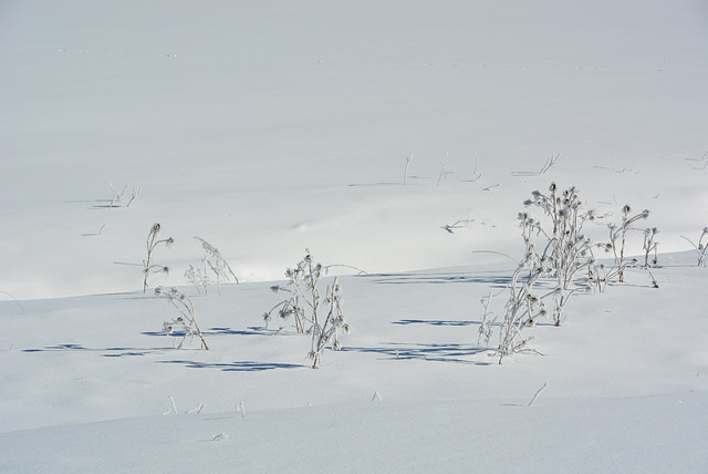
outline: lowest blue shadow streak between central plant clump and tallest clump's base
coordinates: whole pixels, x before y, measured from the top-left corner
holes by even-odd
[[[462,344],[406,344],[399,342],[389,342],[389,347],[385,348],[353,348],[344,347],[341,350],[345,352],[368,352],[379,353],[385,360],[425,360],[428,362],[451,362],[469,365],[490,365],[489,362],[477,362],[472,360],[461,359],[464,357],[485,353],[489,349],[469,347]]]

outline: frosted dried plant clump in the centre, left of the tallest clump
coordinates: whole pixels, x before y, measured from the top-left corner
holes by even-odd
[[[344,319],[342,311],[342,286],[337,278],[325,290],[324,298],[320,291],[320,281],[325,267],[314,262],[310,251],[295,268],[288,268],[285,276],[289,278],[288,287],[272,286],[274,292],[285,291],[290,298],[275,305],[270,311],[263,313],[263,320],[268,324],[273,313],[287,320],[294,319],[295,331],[310,333],[311,350],[308,354],[312,359],[312,368],[320,365],[320,358],[324,348],[330,344],[334,350],[341,348],[339,336],[341,332],[350,332],[351,328]],[[283,328],[281,328],[283,329]]]

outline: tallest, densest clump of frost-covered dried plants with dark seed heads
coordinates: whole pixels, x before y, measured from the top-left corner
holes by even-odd
[[[525,246],[524,257],[514,270],[509,285],[504,316],[499,324],[499,346],[492,353],[503,358],[519,352],[539,353],[529,344],[532,336],[522,333],[540,318],[552,318],[555,326],[564,320],[565,306],[576,291],[590,291],[596,285],[596,261],[592,241],[583,234],[586,221],[594,220],[593,210],[583,210],[577,189],[558,192],[555,183],[549,194],[533,192],[524,202],[538,207],[544,218],[529,213],[519,214],[519,226]],[[488,343],[494,320],[489,320],[491,295],[482,299],[485,313],[479,339]]]

